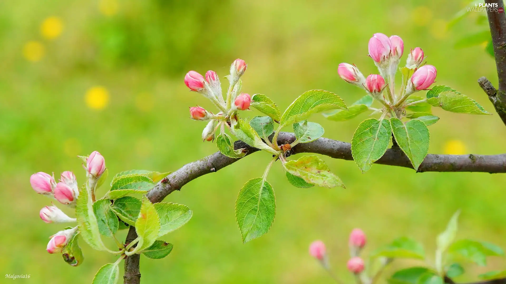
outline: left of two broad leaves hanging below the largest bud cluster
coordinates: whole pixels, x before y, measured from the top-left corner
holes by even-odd
[[[351,152],[362,173],[367,172],[374,161],[385,154],[390,143],[392,129],[387,119],[368,118],[362,121],[351,140]]]

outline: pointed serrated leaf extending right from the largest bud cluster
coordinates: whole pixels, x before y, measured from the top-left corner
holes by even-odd
[[[444,110],[455,113],[489,114],[483,106],[466,95],[452,91],[441,92],[438,97],[427,99],[433,106],[439,106]]]

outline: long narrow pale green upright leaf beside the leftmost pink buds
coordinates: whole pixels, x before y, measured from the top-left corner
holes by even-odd
[[[93,201],[88,196],[89,194],[85,184],[81,187],[79,197],[77,197],[75,204],[77,226],[79,227],[82,239],[84,239],[90,247],[98,251],[106,250],[100,238],[97,218],[93,212]]]

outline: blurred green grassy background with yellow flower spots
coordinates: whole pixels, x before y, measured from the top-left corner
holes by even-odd
[[[363,93],[339,78],[338,64],[354,63],[365,75],[376,73],[366,56],[367,42],[373,33],[383,32],[404,39],[403,60],[410,48],[423,48],[429,64],[438,69],[438,84],[494,112],[477,84],[485,75],[496,85],[493,60],[484,46],[454,48],[461,36],[483,29],[475,23],[479,13],[446,29],[467,4],[0,1],[2,275],[30,274],[30,279],[17,280],[27,283],[90,283],[99,267],[114,260],[83,242],[85,261],[79,267],[45,251],[48,237],[63,225],[45,224],[37,216],[51,200],[31,189],[31,174],[59,176],[72,170],[82,182],[84,171],[75,156],[93,150],[104,155],[109,180],[130,169],[174,171],[217,151],[200,139],[205,124],[187,118],[188,106],[214,110],[184,85],[188,70],[216,70],[225,76],[232,61],[241,58],[248,63],[243,91],[265,94],[281,109],[311,89],[334,92],[352,103]],[[441,120],[430,127],[430,153],[504,152],[506,128],[497,115],[433,111]],[[366,117],[345,123],[321,115],[311,120],[325,127],[325,137],[350,142]],[[174,244],[170,256],[141,256],[142,282],[331,283],[308,255],[310,242],[322,239],[333,269],[351,283],[346,261],[353,228],[368,236],[365,254],[408,235],[424,243],[431,260],[436,235],[457,209],[462,210],[459,238],[487,240],[506,249],[504,175],[416,174],[382,165],[361,174],[353,161],[324,159],[347,189],[292,187],[276,164],[268,178],[276,193],[276,220],[268,234],[245,245],[234,217],[235,198],[244,182],[262,175],[270,155],[253,154],[169,195],[165,201],[189,206],[193,218],[163,238]],[[386,275],[412,264],[394,263]],[[506,260],[492,258],[488,268],[469,265],[468,273],[456,280],[475,280],[481,272],[505,266]],[[4,281],[10,279],[0,277]]]

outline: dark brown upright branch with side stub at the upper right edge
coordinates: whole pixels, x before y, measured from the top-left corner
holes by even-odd
[[[504,11],[502,0],[486,0],[485,3],[497,3],[498,9],[503,9]],[[488,98],[494,105],[495,111],[499,114],[504,125],[506,125],[506,14],[494,11],[494,9],[488,9],[487,16],[490,35],[492,36],[492,45],[494,47],[499,88],[495,90],[485,77],[481,77],[478,80],[478,84],[487,93]]]

